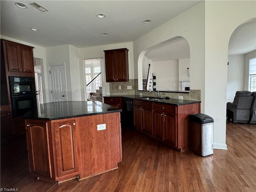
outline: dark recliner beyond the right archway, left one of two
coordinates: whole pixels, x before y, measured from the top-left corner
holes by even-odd
[[[227,118],[234,123],[249,123],[252,92],[237,91],[234,102],[227,103]]]

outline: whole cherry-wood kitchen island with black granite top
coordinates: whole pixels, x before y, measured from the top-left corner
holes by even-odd
[[[66,101],[26,113],[32,176],[60,183],[117,169],[121,111],[97,101]]]

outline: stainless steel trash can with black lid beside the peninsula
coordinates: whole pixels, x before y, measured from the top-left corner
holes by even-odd
[[[200,156],[213,154],[213,118],[202,113],[190,114],[190,150]]]

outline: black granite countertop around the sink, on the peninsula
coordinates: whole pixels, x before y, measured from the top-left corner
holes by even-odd
[[[131,99],[139,99],[142,101],[150,101],[156,103],[163,103],[163,104],[171,104],[171,105],[188,105],[194,103],[201,103],[201,101],[195,100],[185,100],[185,99],[147,99],[147,96],[139,96],[139,95],[104,95],[103,97],[123,97],[123,98],[131,98]],[[142,98],[144,97],[144,98]],[[151,97],[151,96],[148,96]]]

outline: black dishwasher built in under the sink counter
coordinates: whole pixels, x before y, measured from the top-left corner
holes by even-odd
[[[121,123],[133,127],[133,101],[130,98],[123,98]]]

